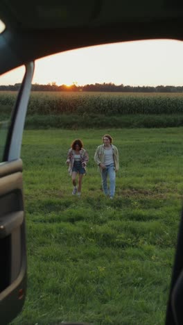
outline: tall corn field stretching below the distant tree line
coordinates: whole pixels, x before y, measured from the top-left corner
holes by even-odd
[[[0,92],[0,112],[8,113],[15,92]],[[32,92],[28,115],[182,114],[182,93]]]

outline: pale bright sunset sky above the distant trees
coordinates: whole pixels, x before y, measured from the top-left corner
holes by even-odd
[[[1,85],[21,81],[24,69],[0,77]],[[183,85],[183,43],[148,40],[87,47],[37,60],[33,83],[86,85]]]

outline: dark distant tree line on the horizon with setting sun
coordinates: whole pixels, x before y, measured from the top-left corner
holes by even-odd
[[[15,85],[0,85],[0,90],[19,90],[20,83]],[[32,85],[34,92],[183,92],[183,86],[173,85],[157,85],[153,86],[130,86],[130,85],[115,85],[114,83],[94,83],[88,85],[77,85],[73,83],[70,86],[57,85],[55,82],[47,85],[34,83]]]

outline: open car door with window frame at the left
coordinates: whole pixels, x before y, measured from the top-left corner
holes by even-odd
[[[26,65],[0,163],[0,315],[8,324],[24,305],[26,293],[26,233],[21,139],[33,78],[34,63]]]

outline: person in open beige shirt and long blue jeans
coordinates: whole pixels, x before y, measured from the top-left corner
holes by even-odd
[[[116,172],[119,169],[119,152],[112,144],[112,137],[109,134],[103,135],[103,144],[98,146],[94,160],[102,176],[103,192],[105,195],[110,194],[113,199],[116,186]],[[107,188],[107,176],[110,178],[110,190]]]

